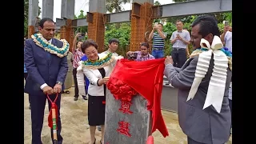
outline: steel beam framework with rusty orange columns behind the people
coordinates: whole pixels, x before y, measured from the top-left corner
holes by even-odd
[[[62,0],[61,18],[56,18],[61,38],[72,46],[74,27],[88,26],[88,38],[98,43],[98,50],[104,49],[105,25],[108,23],[131,22],[130,50],[137,50],[140,42],[146,42],[146,31],[152,30],[155,18],[181,15],[221,13],[232,11],[232,0],[197,0],[154,6],[154,0],[133,0],[132,10],[106,14],[106,0],[90,0],[87,18],[74,19],[74,1]],[[42,18],[53,18],[54,0],[42,1]],[[37,28],[38,0],[29,0],[28,37]]]

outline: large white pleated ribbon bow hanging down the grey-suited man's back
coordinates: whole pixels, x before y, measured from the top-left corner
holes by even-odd
[[[214,109],[220,113],[226,87],[228,58],[226,57],[226,54],[220,50],[222,49],[223,45],[218,36],[214,36],[211,46],[206,39],[202,38],[200,46],[208,50],[202,52],[198,56],[198,64],[195,71],[194,82],[191,86],[190,93],[186,101],[194,98],[194,94],[196,94],[198,91],[198,86],[202,82],[202,78],[205,78],[206,72],[208,71],[211,56],[214,54],[214,69],[210,78],[206,101],[202,109],[206,109],[206,107],[212,105],[214,106]]]

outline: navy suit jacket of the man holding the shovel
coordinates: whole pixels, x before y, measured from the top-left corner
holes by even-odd
[[[53,38],[51,43],[57,47],[63,45],[63,42],[56,38]],[[52,88],[57,81],[64,84],[68,70],[67,58],[49,54],[42,47],[36,45],[31,38],[25,42],[24,62],[28,71],[24,90],[26,93],[43,94],[40,86],[44,83]],[[62,90],[64,90],[64,85]]]

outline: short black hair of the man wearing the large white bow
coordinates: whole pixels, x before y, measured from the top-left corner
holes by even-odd
[[[192,27],[196,25],[199,25],[198,34],[201,34],[202,38],[206,37],[208,34],[217,36],[221,35],[220,31],[218,30],[218,21],[216,18],[214,18],[214,16],[200,15],[191,24]]]

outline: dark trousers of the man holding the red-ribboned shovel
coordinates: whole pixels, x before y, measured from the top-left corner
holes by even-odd
[[[61,94],[58,94],[58,98],[56,100],[56,105],[58,106],[58,122],[57,122],[57,137],[58,137],[58,144],[62,144],[62,136],[61,136],[61,130],[62,130],[62,122],[60,118],[60,107],[61,107]],[[54,102],[54,99],[56,98],[56,94],[49,96],[51,101]],[[30,94],[30,107],[31,107],[31,122],[32,122],[32,144],[42,144],[41,141],[41,132],[42,132],[42,126],[43,126],[43,118],[45,113],[45,107],[46,107],[46,95],[45,94]],[[48,99],[47,99],[48,100]],[[51,103],[48,100],[48,108],[50,110]],[[52,129],[50,130],[51,137],[53,139],[53,133]]]

